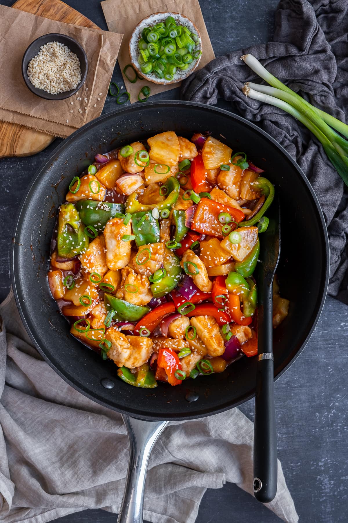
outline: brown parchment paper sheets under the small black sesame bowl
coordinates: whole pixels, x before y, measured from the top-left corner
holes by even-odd
[[[122,35],[64,24],[3,5],[0,5],[0,31],[0,120],[65,138],[100,115]],[[75,38],[88,58],[85,84],[66,100],[44,100],[34,95],[21,74],[22,56],[29,43],[50,32]]]

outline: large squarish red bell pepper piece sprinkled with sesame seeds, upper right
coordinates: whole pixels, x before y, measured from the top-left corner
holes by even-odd
[[[201,234],[223,238],[222,227],[224,224],[219,222],[219,214],[221,212],[228,212],[232,220],[237,223],[244,220],[243,211],[225,205],[225,203],[209,200],[208,198],[201,198],[193,215],[191,229]],[[237,227],[237,224],[233,223],[233,221],[229,223],[232,231]]]

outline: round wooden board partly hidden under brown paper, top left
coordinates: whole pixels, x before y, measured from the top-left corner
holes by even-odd
[[[86,16],[61,0],[17,0],[12,7],[59,22],[99,29]],[[18,123],[0,121],[0,158],[30,156],[45,149],[54,139],[50,134],[20,126]]]

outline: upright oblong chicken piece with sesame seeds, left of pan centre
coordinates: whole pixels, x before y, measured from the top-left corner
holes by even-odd
[[[122,218],[112,218],[106,223],[104,229],[106,264],[111,270],[122,269],[129,263],[130,241],[122,240],[124,234],[131,235],[130,221],[125,225]]]

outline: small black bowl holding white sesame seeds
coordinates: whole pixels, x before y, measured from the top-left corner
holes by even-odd
[[[28,78],[28,64],[34,56],[36,56],[41,46],[44,46],[46,43],[49,42],[59,42],[63,43],[66,47],[70,49],[73,53],[76,54],[77,58],[80,61],[80,69],[81,69],[81,82],[78,84],[78,86],[75,89],[71,89],[69,91],[65,91],[64,93],[58,93],[56,95],[52,95],[51,93],[47,93],[43,89],[38,89],[37,87],[34,87],[33,84],[30,82]],[[31,42],[30,46],[27,48],[26,52],[23,55],[22,60],[22,75],[23,79],[28,87],[28,89],[31,90],[34,95],[38,95],[41,98],[45,98],[46,100],[64,100],[65,98],[69,98],[70,96],[73,96],[73,94],[77,93],[78,90],[82,87],[82,85],[85,83],[86,76],[88,71],[88,61],[87,56],[85,53],[85,50],[83,49],[80,44],[74,40],[74,38],[71,38],[66,35],[60,35],[59,33],[49,33],[48,35],[42,35],[33,42]]]

